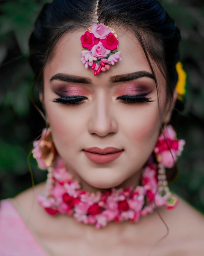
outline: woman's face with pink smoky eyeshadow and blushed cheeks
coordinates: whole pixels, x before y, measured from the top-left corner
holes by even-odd
[[[130,32],[116,31],[122,60],[110,70],[94,76],[90,67],[84,68],[80,37],[85,31],[65,34],[44,69],[44,105],[55,147],[68,169],[95,188],[119,186],[141,172],[160,131],[155,81],[139,74],[151,74],[142,47]],[[161,111],[168,119],[170,114],[164,110],[165,79],[152,64]],[[117,99],[139,93],[148,93],[145,97],[152,102],[127,104]],[[76,105],[53,102],[59,94],[85,99]],[[116,147],[123,152],[109,163],[95,163],[84,151],[90,147]]]

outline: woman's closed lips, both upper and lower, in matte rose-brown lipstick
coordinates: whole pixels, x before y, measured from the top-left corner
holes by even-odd
[[[108,164],[117,159],[124,150],[115,147],[106,147],[104,149],[98,147],[85,148],[87,158],[97,164]]]

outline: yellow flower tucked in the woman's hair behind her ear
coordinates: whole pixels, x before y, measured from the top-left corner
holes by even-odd
[[[186,72],[184,71],[183,64],[180,61],[176,63],[176,71],[178,74],[178,81],[176,83],[176,91],[178,93],[177,98],[182,100],[182,95],[186,92]]]

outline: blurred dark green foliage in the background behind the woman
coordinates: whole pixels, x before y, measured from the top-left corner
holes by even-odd
[[[0,5],[0,199],[13,197],[32,186],[27,157],[45,123],[29,93],[33,73],[28,63],[28,38],[47,0],[1,1]],[[48,1],[49,2],[49,1]],[[179,176],[170,189],[204,212],[204,6],[203,1],[163,0],[181,30],[181,61],[187,72],[187,92],[176,120],[177,137],[185,139],[178,159]],[[34,100],[38,92],[34,91]],[[34,183],[46,179],[31,157]]]

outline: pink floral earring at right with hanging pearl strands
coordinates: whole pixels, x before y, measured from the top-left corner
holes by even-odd
[[[166,207],[171,209],[175,208],[179,200],[175,195],[172,195],[169,190],[165,168],[172,168],[174,166],[174,162],[177,161],[177,156],[180,156],[183,151],[185,140],[178,140],[176,138],[176,132],[170,124],[164,125],[163,134],[161,133],[158,137],[154,148],[155,157],[158,162],[158,191],[162,197],[166,195],[169,196]]]

